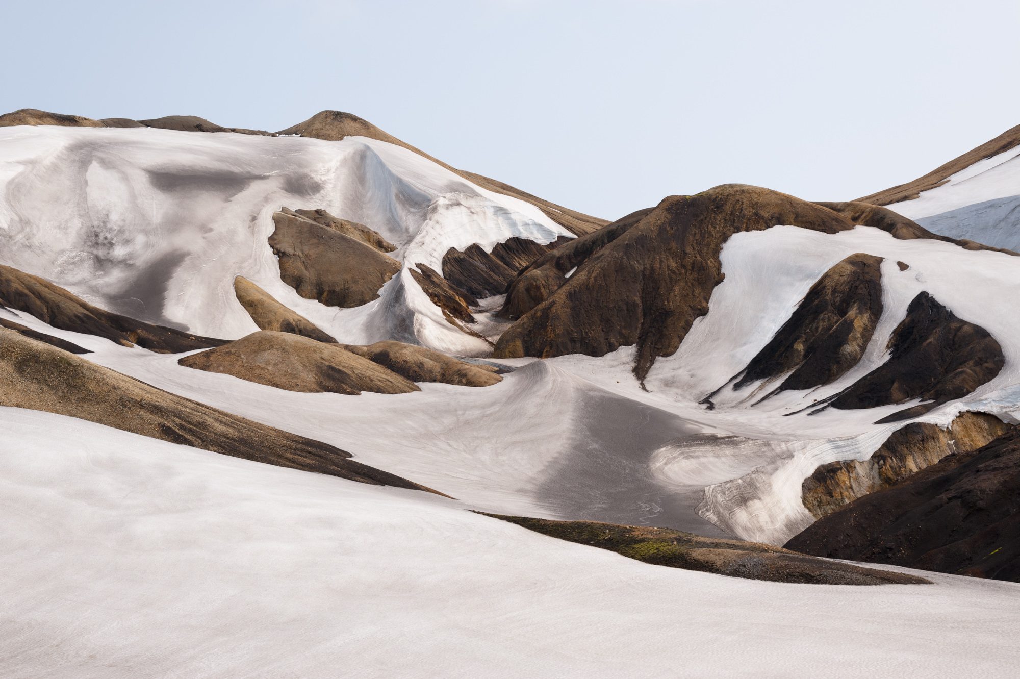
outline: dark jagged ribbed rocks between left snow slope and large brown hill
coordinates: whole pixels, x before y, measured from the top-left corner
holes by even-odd
[[[561,236],[542,245],[514,237],[497,244],[492,252],[477,245],[463,252],[450,248],[443,256],[443,277],[475,298],[503,295],[518,271],[570,240]]]

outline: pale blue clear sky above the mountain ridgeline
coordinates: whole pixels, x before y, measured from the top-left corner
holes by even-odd
[[[0,109],[279,129],[334,108],[606,218],[899,184],[1020,123],[1020,2],[5,3]]]

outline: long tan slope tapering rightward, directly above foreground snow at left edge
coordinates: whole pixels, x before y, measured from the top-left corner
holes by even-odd
[[[0,329],[0,384],[2,406],[78,417],[173,443],[362,483],[428,489],[348,460],[350,453],[333,446],[168,394],[6,329]]]

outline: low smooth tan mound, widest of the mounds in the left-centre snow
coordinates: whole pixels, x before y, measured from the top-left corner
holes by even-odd
[[[186,356],[183,366],[220,372],[289,391],[407,394],[420,388],[341,345],[261,330],[222,347]]]

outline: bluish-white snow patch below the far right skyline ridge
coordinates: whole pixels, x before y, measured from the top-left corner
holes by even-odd
[[[1020,251],[1020,147],[980,160],[889,209],[956,239]]]

